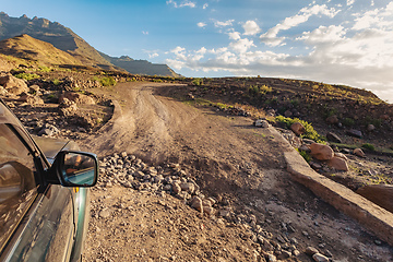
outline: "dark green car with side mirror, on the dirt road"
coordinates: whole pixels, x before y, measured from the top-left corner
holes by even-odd
[[[0,98],[0,261],[80,261],[95,154],[32,136]]]

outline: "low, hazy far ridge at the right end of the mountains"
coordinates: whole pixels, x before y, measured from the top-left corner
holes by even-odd
[[[180,76],[166,64],[151,63],[146,60],[134,60],[128,56],[116,58],[109,57],[108,55],[105,55],[103,52],[99,53],[110,63],[115,64],[116,67],[122,68],[128,72],[132,72],[133,74],[163,75],[172,78]]]

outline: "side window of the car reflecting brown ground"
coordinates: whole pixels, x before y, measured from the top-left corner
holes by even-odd
[[[34,158],[16,135],[16,129],[0,123],[0,248],[37,194]]]

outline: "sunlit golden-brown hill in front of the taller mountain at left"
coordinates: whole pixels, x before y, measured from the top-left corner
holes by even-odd
[[[70,53],[28,35],[1,40],[0,52],[28,61],[39,61],[40,64],[82,64]]]

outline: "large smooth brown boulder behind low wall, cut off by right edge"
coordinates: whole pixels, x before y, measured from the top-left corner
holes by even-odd
[[[393,213],[393,186],[369,184],[359,188],[356,193]]]

